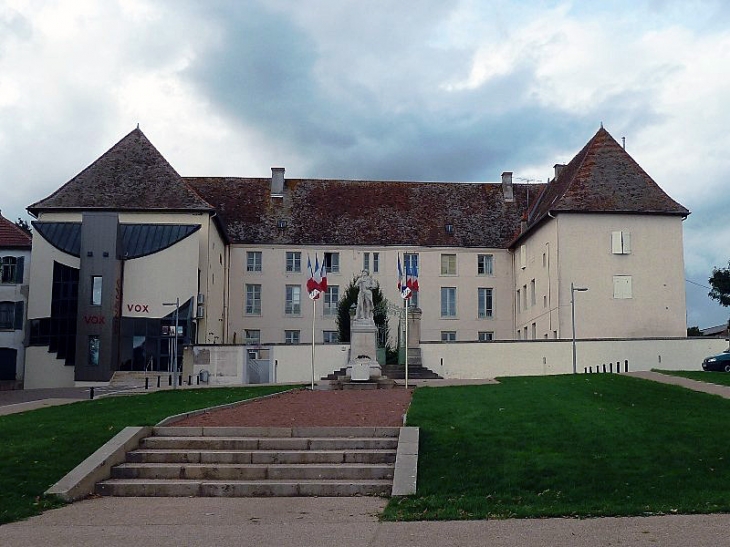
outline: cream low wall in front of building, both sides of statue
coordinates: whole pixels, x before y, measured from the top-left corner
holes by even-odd
[[[669,338],[641,340],[578,340],[577,371],[609,364],[616,370],[629,362],[630,371],[702,370],[702,360],[728,347],[722,338]],[[349,346],[318,344],[315,348],[315,381],[347,365]],[[271,383],[312,381],[312,346],[266,347]],[[194,346],[186,348],[184,373],[210,373],[211,385],[249,383],[245,346]],[[544,376],[573,372],[570,340],[423,342],[423,365],[444,378],[476,379],[498,376]],[[188,368],[190,367],[190,368]],[[187,372],[190,370],[191,372]]]

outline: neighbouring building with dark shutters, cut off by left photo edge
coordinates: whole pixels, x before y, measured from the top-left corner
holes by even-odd
[[[23,381],[31,236],[0,215],[0,386]]]

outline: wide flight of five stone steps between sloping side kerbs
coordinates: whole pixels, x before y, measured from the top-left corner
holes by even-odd
[[[155,427],[105,496],[390,495],[398,427]]]

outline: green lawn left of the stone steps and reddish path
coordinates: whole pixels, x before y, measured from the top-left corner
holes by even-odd
[[[286,389],[159,391],[0,416],[0,524],[63,505],[43,492],[125,426],[154,425],[171,415]]]

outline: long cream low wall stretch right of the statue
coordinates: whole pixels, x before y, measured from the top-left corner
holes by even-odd
[[[576,369],[629,362],[629,370],[702,370],[702,360],[728,347],[721,338],[578,340]],[[570,340],[421,344],[423,365],[444,378],[541,376],[573,372]]]

